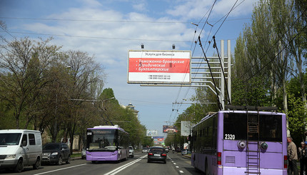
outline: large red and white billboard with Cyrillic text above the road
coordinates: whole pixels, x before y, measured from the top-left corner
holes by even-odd
[[[129,84],[191,84],[191,51],[129,51]]]

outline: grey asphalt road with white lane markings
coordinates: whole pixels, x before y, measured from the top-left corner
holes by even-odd
[[[0,174],[13,174],[13,172],[0,170]],[[31,166],[25,167],[20,175],[51,175],[51,174],[101,174],[101,175],[144,175],[144,174],[201,174],[191,166],[191,160],[181,156],[181,154],[168,153],[166,164],[163,162],[147,163],[147,154],[136,152],[134,158],[129,158],[127,161],[119,163],[101,162],[92,164],[90,161],[84,159],[72,160],[71,164],[44,165],[39,169],[34,170]]]

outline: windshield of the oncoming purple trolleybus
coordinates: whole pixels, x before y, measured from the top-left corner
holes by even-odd
[[[89,150],[115,151],[116,130],[114,129],[91,129],[86,133],[86,142]]]

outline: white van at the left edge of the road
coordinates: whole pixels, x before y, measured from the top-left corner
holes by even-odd
[[[24,129],[0,130],[0,169],[21,172],[24,166],[39,169],[41,165],[41,133]]]

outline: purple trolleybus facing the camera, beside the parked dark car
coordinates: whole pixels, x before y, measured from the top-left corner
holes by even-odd
[[[94,126],[86,131],[86,161],[120,161],[129,156],[129,134],[119,126]]]

